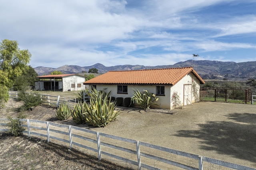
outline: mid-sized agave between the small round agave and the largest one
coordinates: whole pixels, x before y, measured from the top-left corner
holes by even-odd
[[[74,105],[72,110],[72,119],[76,123],[86,123],[86,117],[84,113],[86,112],[86,102],[82,103],[81,101]]]

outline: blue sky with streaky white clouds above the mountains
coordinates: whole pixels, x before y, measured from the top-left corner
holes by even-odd
[[[32,67],[256,61],[256,0],[1,0]]]

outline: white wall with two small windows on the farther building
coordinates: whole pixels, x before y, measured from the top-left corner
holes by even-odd
[[[67,92],[70,91],[79,91],[79,90],[85,90],[85,85],[83,82],[85,81],[84,77],[80,76],[68,76],[62,78],[62,91]],[[72,87],[72,84],[74,84],[74,87]],[[81,84],[81,87],[78,87],[78,84]]]

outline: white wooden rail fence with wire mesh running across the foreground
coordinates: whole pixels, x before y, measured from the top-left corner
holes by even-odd
[[[160,147],[133,139],[108,135],[72,125],[61,125],[31,119],[20,119],[20,121],[26,127],[23,133],[28,134],[28,137],[40,136],[48,142],[98,156],[99,160],[101,158],[117,160],[125,162],[124,164],[126,165],[129,163],[133,168],[138,168],[139,170],[203,170],[222,168],[256,170],[238,164]],[[0,119],[0,131],[8,131],[7,123],[8,119]]]

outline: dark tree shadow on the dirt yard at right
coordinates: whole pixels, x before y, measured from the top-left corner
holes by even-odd
[[[200,130],[181,130],[175,136],[201,139],[203,150],[256,162],[256,114],[230,113],[227,117],[230,121],[208,121],[198,124]]]

